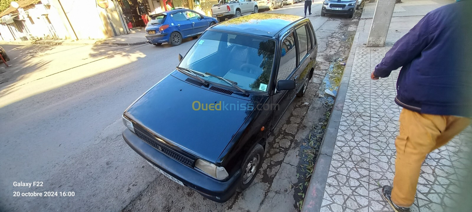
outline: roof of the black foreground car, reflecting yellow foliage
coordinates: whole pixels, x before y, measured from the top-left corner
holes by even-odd
[[[303,17],[293,15],[255,13],[229,19],[212,26],[211,29],[274,38],[287,26],[302,19]]]

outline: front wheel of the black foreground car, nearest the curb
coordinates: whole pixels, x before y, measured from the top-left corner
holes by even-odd
[[[255,164],[256,161],[254,161],[256,157],[259,160],[257,161],[257,164]],[[262,161],[264,161],[264,148],[261,146],[261,144],[255,144],[251,152],[249,152],[246,158],[244,158],[243,164],[241,165],[241,170],[243,171],[243,177],[238,182],[236,191],[242,192],[244,191],[244,189],[248,188],[251,185],[251,183],[256,178],[256,175],[259,172],[259,169],[261,168]],[[252,164],[250,165],[250,163]],[[254,165],[256,165],[256,167],[254,167]],[[250,170],[252,170],[251,176],[249,179],[244,178],[246,173],[248,173],[248,171],[246,171],[246,168],[249,168]]]

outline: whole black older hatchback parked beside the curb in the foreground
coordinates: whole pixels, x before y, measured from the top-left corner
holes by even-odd
[[[256,13],[211,26],[125,110],[123,138],[176,186],[226,202],[277,142],[269,136],[307,90],[317,48],[308,18]]]

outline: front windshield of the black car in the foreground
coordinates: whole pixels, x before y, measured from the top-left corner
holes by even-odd
[[[275,42],[255,36],[207,31],[179,67],[236,82],[244,90],[267,92],[274,63]],[[205,80],[228,86],[214,76]]]

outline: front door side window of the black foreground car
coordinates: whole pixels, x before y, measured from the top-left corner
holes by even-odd
[[[290,33],[282,42],[280,65],[278,67],[277,80],[287,79],[296,68],[295,35]]]

